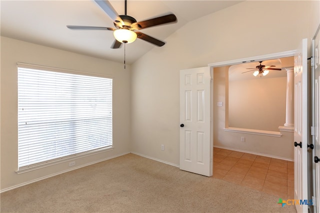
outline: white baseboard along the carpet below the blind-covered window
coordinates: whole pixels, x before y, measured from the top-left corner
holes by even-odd
[[[112,159],[112,158],[120,157],[120,156],[126,155],[126,154],[129,154],[129,152],[128,153],[119,154],[119,155],[116,155],[116,156],[112,156],[112,157],[109,157],[109,158],[104,158],[104,159],[101,159],[101,160],[98,160],[98,161],[94,161],[94,162],[91,162],[91,163],[88,163],[88,164],[83,164],[83,165],[80,165],[80,166],[77,166],[77,167],[72,167],[70,169],[63,170],[61,172],[57,172],[57,173],[54,173],[54,174],[51,174],[51,175],[48,175],[48,176],[37,178],[37,179],[34,179],[32,181],[27,181],[27,182],[24,182],[22,184],[14,185],[12,187],[8,187],[6,189],[1,190],[0,193],[6,192],[6,191],[9,191],[9,190],[13,190],[13,189],[16,189],[16,188],[19,188],[19,187],[23,187],[25,185],[32,184],[34,182],[41,181],[41,180],[44,180],[44,179],[47,179],[47,178],[51,178],[53,176],[60,175],[62,173],[66,173],[66,172],[70,172],[72,170],[80,169],[82,167],[90,166],[92,164],[96,164],[96,163],[100,163],[102,161],[106,161],[106,160],[109,160],[109,159]]]

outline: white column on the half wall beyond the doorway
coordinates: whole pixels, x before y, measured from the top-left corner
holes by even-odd
[[[286,70],[286,104],[285,104],[285,127],[294,126],[294,68],[287,67]]]

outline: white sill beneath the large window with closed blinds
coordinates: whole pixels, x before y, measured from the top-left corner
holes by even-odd
[[[84,158],[87,156],[91,156],[91,155],[96,155],[98,153],[102,153],[102,152],[108,152],[108,151],[112,151],[113,150],[113,146],[112,147],[105,147],[105,148],[101,148],[98,150],[93,150],[93,151],[88,151],[85,153],[79,153],[79,154],[75,154],[72,156],[66,156],[63,158],[58,158],[58,159],[54,159],[51,161],[47,161],[47,162],[43,162],[43,163],[38,163],[35,165],[30,165],[28,167],[24,167],[24,168],[20,168],[18,169],[16,172],[16,174],[22,174],[22,173],[26,173],[26,172],[31,172],[34,170],[38,170],[41,168],[45,168],[45,167],[49,167],[52,165],[56,165],[56,164],[61,164],[61,163],[65,163],[65,162],[69,162],[69,161],[75,161],[76,159],[80,159],[80,158]],[[73,166],[70,166],[70,168]]]

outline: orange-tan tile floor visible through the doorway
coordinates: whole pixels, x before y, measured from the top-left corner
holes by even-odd
[[[282,199],[294,199],[293,162],[213,148],[213,177]]]

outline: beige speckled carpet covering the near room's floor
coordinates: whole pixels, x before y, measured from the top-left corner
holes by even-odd
[[[0,195],[1,213],[272,213],[279,198],[134,154]]]

